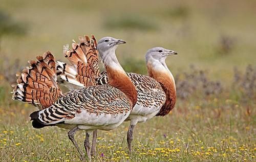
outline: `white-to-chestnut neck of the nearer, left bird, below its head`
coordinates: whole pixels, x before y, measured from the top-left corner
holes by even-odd
[[[106,68],[109,84],[121,90],[132,102],[133,107],[137,102],[137,90],[131,79],[126,75],[122,66],[119,64],[115,51],[109,51],[102,61]]]

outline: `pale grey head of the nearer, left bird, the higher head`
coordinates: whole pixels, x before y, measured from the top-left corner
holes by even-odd
[[[97,49],[102,58],[102,55],[108,54],[110,51],[115,51],[118,44],[124,43],[126,42],[121,39],[116,39],[113,37],[103,37],[98,41]]]

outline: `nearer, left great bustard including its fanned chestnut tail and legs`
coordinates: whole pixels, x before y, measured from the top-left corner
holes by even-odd
[[[31,113],[33,127],[56,125],[71,129],[68,136],[81,158],[82,154],[74,135],[77,130],[86,130],[84,147],[91,158],[89,136],[93,130],[116,128],[129,116],[137,102],[135,86],[126,76],[115,55],[117,45],[122,43],[125,42],[104,37],[98,44],[99,49],[105,49],[101,57],[109,76],[109,84],[75,89],[64,95],[56,83],[53,55],[48,52],[38,57],[38,61],[34,61],[29,70],[19,77],[20,81],[14,89],[13,96],[14,99],[32,104],[42,104],[43,101],[50,103],[49,105],[53,103],[49,107],[46,106],[47,108],[43,107],[44,109]],[[44,89],[45,87],[48,88]]]

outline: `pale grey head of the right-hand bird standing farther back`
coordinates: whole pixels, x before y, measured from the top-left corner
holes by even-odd
[[[146,52],[146,61],[149,59],[155,59],[160,62],[165,61],[167,56],[177,55],[177,52],[173,50],[167,50],[162,47],[155,47],[153,49],[147,50]]]

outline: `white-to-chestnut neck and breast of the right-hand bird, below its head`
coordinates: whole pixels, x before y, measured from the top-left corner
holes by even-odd
[[[154,59],[147,61],[147,72],[150,77],[161,84],[165,92],[166,102],[157,114],[164,116],[174,108],[176,102],[176,86],[173,74],[169,71],[164,60]]]

